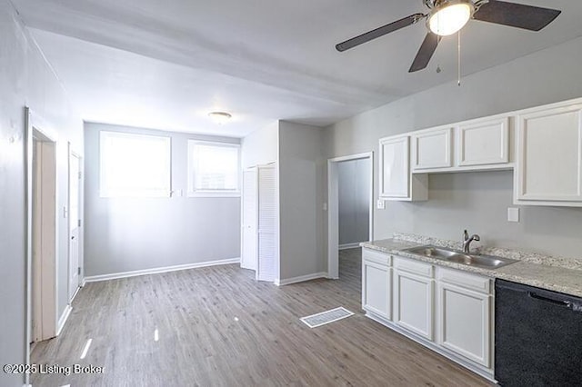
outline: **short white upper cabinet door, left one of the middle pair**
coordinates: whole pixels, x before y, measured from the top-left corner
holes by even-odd
[[[413,170],[452,166],[452,133],[453,129],[447,127],[413,134]]]

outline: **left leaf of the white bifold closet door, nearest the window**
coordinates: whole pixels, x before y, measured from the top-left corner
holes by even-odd
[[[243,171],[242,248],[240,266],[256,270],[256,168]]]

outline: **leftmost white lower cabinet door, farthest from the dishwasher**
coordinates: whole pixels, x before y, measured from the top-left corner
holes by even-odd
[[[364,260],[362,264],[362,308],[392,319],[392,268]]]

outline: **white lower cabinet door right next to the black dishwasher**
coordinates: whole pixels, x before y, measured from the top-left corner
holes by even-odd
[[[439,344],[490,367],[491,296],[438,283]]]

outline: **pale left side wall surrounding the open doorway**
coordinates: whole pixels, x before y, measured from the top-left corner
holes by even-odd
[[[0,36],[0,364],[6,364],[25,362],[25,105],[58,135],[57,208],[67,203],[67,143],[82,154],[83,127],[7,0],[0,0]],[[67,233],[66,219],[60,217],[59,314],[67,303]],[[23,375],[0,372],[2,386],[20,387],[23,383]]]

